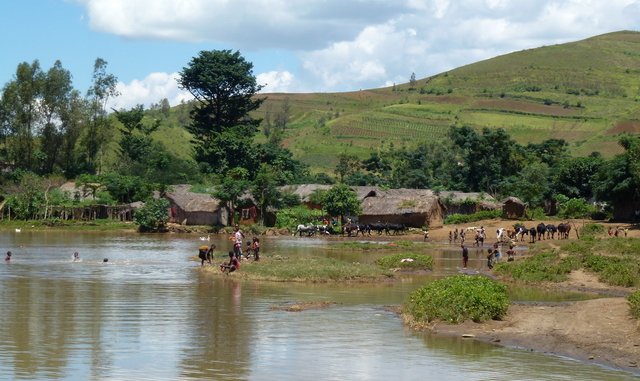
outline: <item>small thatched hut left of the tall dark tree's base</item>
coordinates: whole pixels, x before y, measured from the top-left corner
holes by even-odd
[[[183,225],[227,225],[228,213],[220,200],[209,194],[190,192],[190,185],[174,185],[165,197],[170,203],[170,222]]]

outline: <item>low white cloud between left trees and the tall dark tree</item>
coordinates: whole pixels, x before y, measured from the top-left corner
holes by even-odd
[[[118,82],[118,97],[110,100],[109,108],[130,109],[138,104],[148,108],[153,103],[159,103],[167,98],[171,106],[182,101],[193,99],[191,94],[178,87],[178,73],[151,73],[143,80],[133,80],[130,83]]]

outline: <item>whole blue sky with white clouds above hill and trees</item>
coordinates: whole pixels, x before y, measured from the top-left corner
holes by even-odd
[[[102,58],[111,107],[174,106],[190,60],[230,49],[262,92],[355,91],[619,30],[640,30],[640,0],[0,0],[0,86],[60,60],[85,93]]]

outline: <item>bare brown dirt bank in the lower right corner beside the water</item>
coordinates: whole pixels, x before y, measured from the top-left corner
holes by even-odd
[[[501,321],[466,321],[458,325],[436,322],[426,330],[435,335],[568,357],[640,375],[639,328],[638,321],[629,315],[626,299],[616,297],[512,304]]]

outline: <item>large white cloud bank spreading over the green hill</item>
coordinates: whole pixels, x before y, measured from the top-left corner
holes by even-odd
[[[639,29],[640,20],[638,0],[75,1],[92,28],[127,38],[221,43],[262,56],[293,52],[295,68],[261,67],[258,82],[274,92],[406,82],[412,72],[421,78],[498,54]],[[149,81],[123,88],[142,97],[158,87]]]

